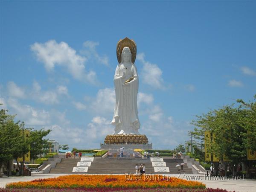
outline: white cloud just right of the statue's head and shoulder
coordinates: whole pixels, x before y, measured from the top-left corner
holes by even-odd
[[[157,66],[157,64],[151,64],[145,61],[145,54],[137,54],[137,59],[143,63],[143,69],[141,73],[142,81],[145,84],[157,89],[165,89],[163,85],[162,73],[163,71]]]

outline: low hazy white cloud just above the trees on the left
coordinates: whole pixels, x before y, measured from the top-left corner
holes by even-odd
[[[36,110],[30,105],[22,105],[16,99],[7,100],[9,108],[17,114],[17,119],[30,126],[44,126],[50,123],[50,114],[45,110]]]

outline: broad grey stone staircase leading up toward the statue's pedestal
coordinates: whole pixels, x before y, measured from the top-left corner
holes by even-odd
[[[73,167],[76,167],[79,159],[62,159],[60,163],[57,163],[55,168],[51,168],[50,173],[70,173],[73,172]],[[163,157],[166,162],[166,166],[169,167],[170,172],[164,174],[175,173],[192,173],[192,169],[188,168],[186,163],[184,165],[183,172],[178,172],[176,163],[183,163],[182,159],[172,159]],[[88,174],[125,174],[135,173],[135,165],[145,164],[147,173],[155,173],[154,167],[150,159],[142,158],[105,158],[94,157],[94,161],[91,162],[91,166],[88,167]],[[73,173],[76,174],[76,173]]]

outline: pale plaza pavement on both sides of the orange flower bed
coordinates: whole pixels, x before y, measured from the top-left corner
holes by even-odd
[[[71,174],[33,174],[31,176],[23,176],[23,177],[0,177],[0,188],[4,188],[7,183],[17,182],[17,181],[29,181],[34,179],[43,179],[43,178],[52,178],[58,177],[61,175],[71,175]],[[86,174],[88,175],[88,174]],[[103,174],[104,175],[104,174]],[[105,174],[108,175],[108,174]],[[119,174],[113,174],[119,175]],[[183,175],[179,174],[164,174],[165,176],[171,177],[179,177],[183,178]],[[196,174],[186,174],[183,179],[189,176],[200,176],[198,181],[206,184],[209,188],[220,188],[226,189],[227,191],[236,191],[236,192],[255,192],[256,191],[256,180],[205,180],[204,175],[196,175]]]

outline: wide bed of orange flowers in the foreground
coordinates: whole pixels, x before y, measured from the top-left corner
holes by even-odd
[[[137,180],[135,180],[137,179]],[[175,177],[164,178],[154,175],[152,178],[142,176],[140,180],[135,175],[65,175],[57,178],[36,179],[9,183],[6,188],[186,188],[205,189],[203,183],[182,180]]]

